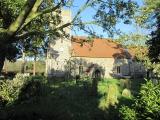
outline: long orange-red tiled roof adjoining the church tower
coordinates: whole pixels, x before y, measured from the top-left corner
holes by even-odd
[[[122,45],[110,40],[93,38],[87,42],[87,37],[72,37],[72,56],[91,58],[130,58],[130,54]]]

